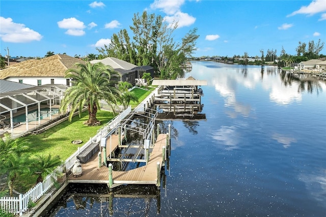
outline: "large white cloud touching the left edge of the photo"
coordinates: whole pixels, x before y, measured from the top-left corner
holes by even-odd
[[[43,36],[24,24],[14,23],[11,18],[0,17],[0,38],[4,42],[26,43],[40,41]]]

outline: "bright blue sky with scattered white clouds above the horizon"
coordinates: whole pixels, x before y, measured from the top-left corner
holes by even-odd
[[[298,42],[326,42],[326,0],[314,1],[13,1],[0,2],[0,53],[44,57],[47,51],[70,56],[98,54],[144,10],[178,21],[175,41],[198,28],[194,56],[260,56],[282,46],[295,55]],[[6,49],[6,50],[5,50]],[[326,45],[320,52],[326,54]]]

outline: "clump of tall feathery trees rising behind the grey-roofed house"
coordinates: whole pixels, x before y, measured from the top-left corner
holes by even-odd
[[[197,28],[176,42],[173,38],[178,23],[168,25],[161,16],[134,14],[132,41],[126,29],[111,38],[110,45],[97,48],[100,55],[113,56],[138,66],[152,66],[161,78],[173,79],[182,74],[180,65],[196,50]]]

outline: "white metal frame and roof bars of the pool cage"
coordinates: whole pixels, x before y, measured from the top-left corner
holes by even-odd
[[[64,92],[69,86],[64,84],[44,84],[35,87],[24,88],[9,92],[0,93],[0,120],[10,119],[10,125],[7,126],[14,133],[14,127],[17,125],[13,118],[18,114],[25,113],[26,131],[29,131],[29,112],[37,108],[39,116],[41,115],[41,106],[52,110],[52,106],[60,105],[64,97]],[[52,115],[50,113],[50,120]],[[41,118],[38,119],[38,125],[41,125]],[[4,126],[5,128],[5,126]]]

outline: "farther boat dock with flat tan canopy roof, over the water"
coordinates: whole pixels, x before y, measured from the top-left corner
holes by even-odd
[[[201,114],[204,96],[202,88],[207,85],[205,80],[195,80],[192,77],[180,80],[153,80],[153,85],[158,85],[158,95],[153,99],[153,104],[158,110],[158,119],[206,119]]]

